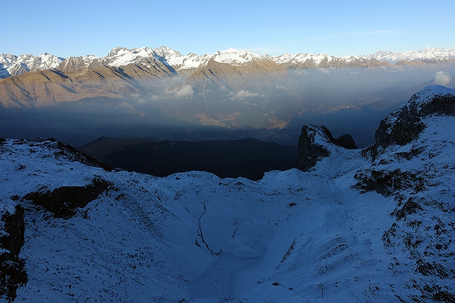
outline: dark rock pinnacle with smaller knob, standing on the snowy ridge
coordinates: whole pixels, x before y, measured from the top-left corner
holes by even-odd
[[[317,161],[330,155],[330,151],[324,145],[315,142],[317,133],[329,144],[333,143],[348,149],[357,148],[354,139],[349,134],[344,134],[335,139],[327,127],[305,124],[302,127],[302,133],[297,145],[298,158],[296,167],[302,171],[308,171],[316,165]]]

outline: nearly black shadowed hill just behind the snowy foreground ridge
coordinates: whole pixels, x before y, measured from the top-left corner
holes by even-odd
[[[150,140],[125,145],[100,159],[116,168],[165,177],[206,171],[220,178],[259,180],[264,172],[295,167],[297,147],[256,139],[174,142]]]

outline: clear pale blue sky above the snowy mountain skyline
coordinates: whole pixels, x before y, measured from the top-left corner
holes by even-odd
[[[116,46],[183,55],[367,55],[455,47],[455,1],[54,1],[2,4],[0,53],[105,56]]]

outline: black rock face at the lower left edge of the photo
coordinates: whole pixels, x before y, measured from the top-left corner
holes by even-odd
[[[8,211],[1,219],[8,235],[0,237],[0,245],[6,251],[0,255],[0,297],[14,301],[19,286],[27,283],[25,262],[18,257],[24,244],[24,210],[16,205],[14,213]]]

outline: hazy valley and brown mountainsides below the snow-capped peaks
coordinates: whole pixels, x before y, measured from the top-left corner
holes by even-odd
[[[451,61],[285,69],[264,60],[211,60],[191,72],[167,68],[100,66],[0,80],[0,136],[55,137],[74,146],[102,136],[295,145],[302,125],[313,123],[365,147],[392,109],[427,85],[453,87],[455,75]]]

